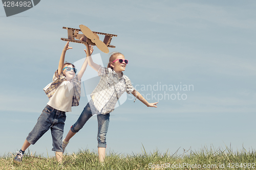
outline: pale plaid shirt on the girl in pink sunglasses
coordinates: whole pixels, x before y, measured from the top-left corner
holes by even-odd
[[[101,114],[112,112],[117,100],[125,91],[130,94],[135,90],[127,76],[122,73],[122,77],[118,78],[117,73],[111,68],[100,66],[98,76],[101,78],[91,97],[94,96],[94,106]]]

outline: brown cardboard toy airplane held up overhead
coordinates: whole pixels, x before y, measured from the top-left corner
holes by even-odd
[[[116,46],[110,45],[112,37],[117,37],[115,34],[107,34],[107,33],[99,33],[91,31],[88,27],[80,25],[80,29],[74,29],[74,28],[67,28],[62,27],[63,29],[68,30],[68,38],[61,38],[63,41],[70,41],[70,42],[76,42],[76,43],[82,43],[84,45],[90,44],[90,45],[96,45],[100,51],[103,53],[109,53],[109,48],[115,48]],[[83,34],[78,34],[79,31],[81,31]],[[99,39],[100,35],[105,35],[103,42]],[[81,41],[80,38],[83,37],[83,40]],[[75,40],[78,39],[78,40]]]

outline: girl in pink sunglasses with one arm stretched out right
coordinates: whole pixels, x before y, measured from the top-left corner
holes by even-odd
[[[87,46],[89,49],[89,45]],[[115,105],[120,96],[126,91],[128,94],[132,93],[137,99],[144,103],[147,107],[157,107],[157,103],[148,103],[143,96],[135,90],[130,79],[123,75],[123,72],[128,64],[128,60],[124,59],[121,53],[114,53],[109,59],[108,68],[104,68],[93,62],[90,51],[84,50],[87,54],[88,64],[98,72],[100,81],[97,87],[91,94],[91,100],[84,107],[77,122],[71,127],[66,138],[63,139],[63,152],[69,143],[69,140],[80,130],[87,120],[93,115],[97,114],[98,119],[98,153],[99,161],[103,162],[105,158],[106,149],[106,132],[109,127],[110,112],[115,108]],[[135,99],[136,100],[136,99]]]

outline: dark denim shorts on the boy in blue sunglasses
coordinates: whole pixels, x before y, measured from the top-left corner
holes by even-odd
[[[33,130],[29,133],[27,140],[31,144],[44,135],[49,129],[52,133],[53,149],[55,152],[62,152],[62,135],[66,120],[66,112],[57,110],[47,105],[37,119]]]

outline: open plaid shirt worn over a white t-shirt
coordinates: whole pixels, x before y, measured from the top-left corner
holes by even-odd
[[[58,70],[55,71],[53,75],[53,82],[48,84],[45,88],[44,91],[46,92],[46,95],[48,96],[49,100],[52,98],[54,92],[56,89],[59,87],[59,85],[66,80],[66,76],[63,75],[63,72],[59,76],[58,75]],[[73,89],[74,89],[74,95],[72,98],[72,106],[78,106],[79,101],[80,101],[80,94],[81,94],[81,81],[77,79],[77,76],[71,80],[73,83]]]

